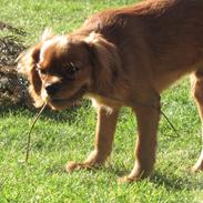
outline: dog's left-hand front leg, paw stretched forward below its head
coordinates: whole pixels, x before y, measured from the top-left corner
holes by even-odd
[[[91,169],[104,163],[112,151],[113,135],[119,116],[119,109],[106,111],[103,108],[98,109],[98,123],[95,131],[94,150],[82,163],[71,162],[67,165],[67,171],[71,172],[79,169]]]

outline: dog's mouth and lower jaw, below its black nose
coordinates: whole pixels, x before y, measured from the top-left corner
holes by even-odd
[[[79,91],[77,91],[73,95],[69,98],[52,98],[49,101],[49,104],[52,109],[64,109],[69,108],[71,105],[74,105],[74,103],[80,100],[87,92],[87,87],[82,87]]]

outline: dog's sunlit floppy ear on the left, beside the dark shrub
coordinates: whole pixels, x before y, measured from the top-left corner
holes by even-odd
[[[30,48],[18,58],[18,71],[24,74],[29,81],[29,92],[34,100],[37,108],[43,104],[40,98],[42,82],[37,71],[37,63],[39,61],[40,48]]]

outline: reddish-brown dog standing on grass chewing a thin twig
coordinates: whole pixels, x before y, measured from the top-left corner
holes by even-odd
[[[123,105],[138,119],[135,164],[123,180],[150,175],[155,162],[160,93],[192,73],[192,92],[203,118],[203,1],[151,0],[94,14],[68,35],[44,33],[22,57],[38,106],[59,110],[87,95],[98,111],[95,149],[83,163],[102,164],[112,151]],[[203,152],[193,171],[203,170]]]

